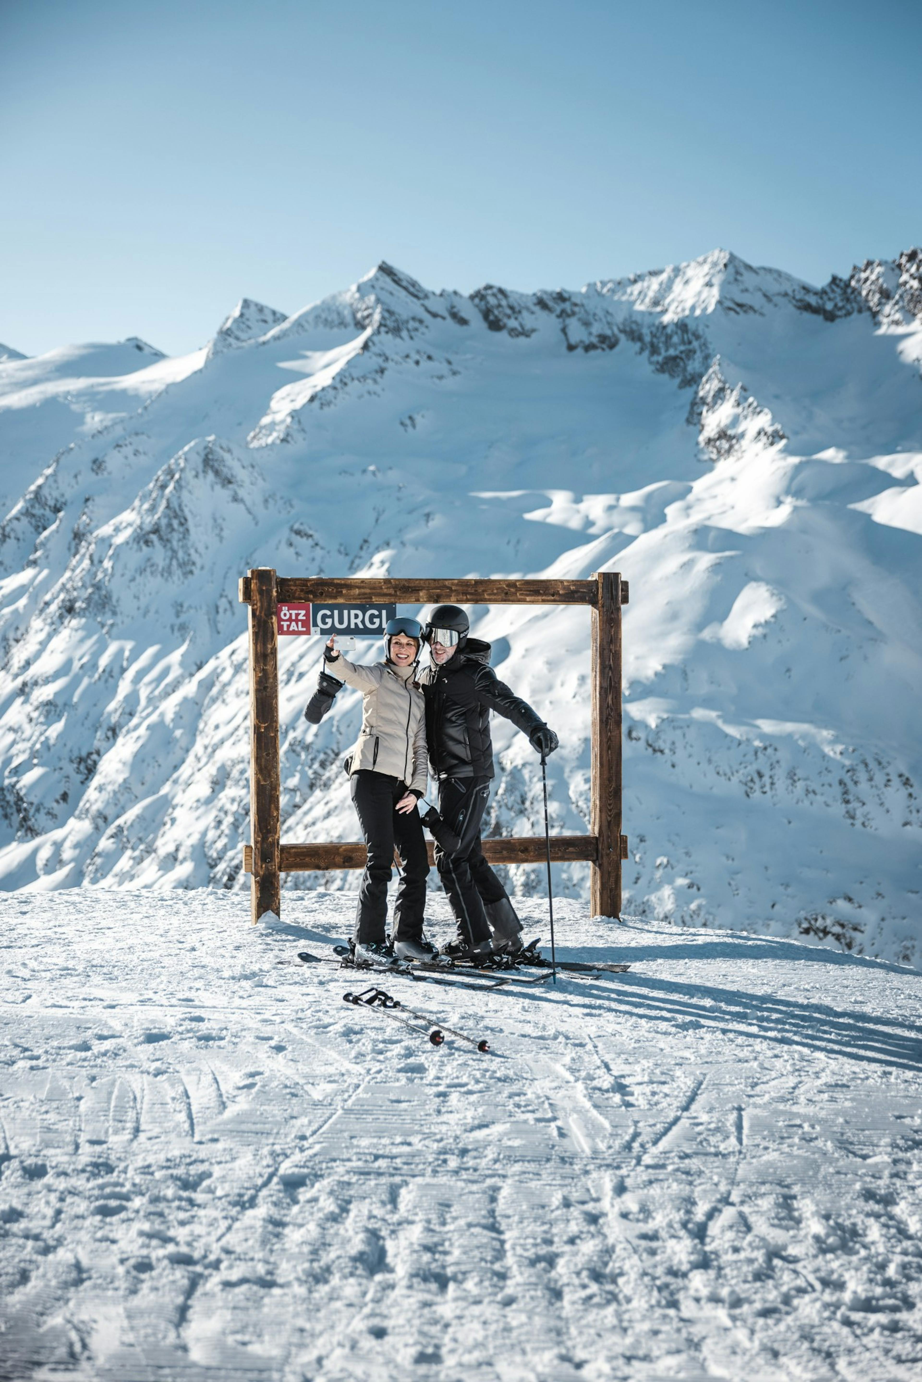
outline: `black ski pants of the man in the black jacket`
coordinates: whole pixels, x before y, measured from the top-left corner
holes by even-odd
[[[438,814],[460,836],[460,844],[453,854],[435,844],[435,868],[458,922],[459,940],[474,945],[491,934],[484,904],[489,907],[506,897],[480,842],[488,800],[489,778],[444,778],[438,784]]]

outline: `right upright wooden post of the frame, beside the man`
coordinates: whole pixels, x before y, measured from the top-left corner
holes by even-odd
[[[592,916],[621,916],[621,575],[596,572],[592,611]]]

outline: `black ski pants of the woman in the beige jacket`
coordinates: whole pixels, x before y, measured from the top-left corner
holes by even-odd
[[[426,911],[429,855],[419,811],[404,815],[394,810],[406,795],[406,784],[388,773],[359,768],[352,774],[350,788],[368,849],[368,864],[358,889],[355,940],[387,938],[387,884],[394,846],[404,864],[394,901],[394,940],[419,940]]]

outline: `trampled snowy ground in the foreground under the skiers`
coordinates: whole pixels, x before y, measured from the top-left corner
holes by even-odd
[[[379,980],[484,1056],[297,965],[351,912],[0,902],[0,1376],[916,1382],[922,976],[568,901],[629,974]]]

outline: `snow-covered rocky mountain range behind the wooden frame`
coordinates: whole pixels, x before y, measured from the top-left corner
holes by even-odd
[[[243,300],[182,359],[7,350],[3,886],[245,884],[249,567],[605,568],[632,593],[626,909],[918,963],[921,362],[915,250],[822,289],[723,250],[470,297],[382,264],[289,318]],[[586,829],[587,612],[474,616],[560,732],[552,828]],[[318,640],[281,662],[283,837],[354,839],[358,697],[308,727]],[[495,738],[491,829],[538,833],[536,757]],[[585,865],[556,875],[585,896]]]

